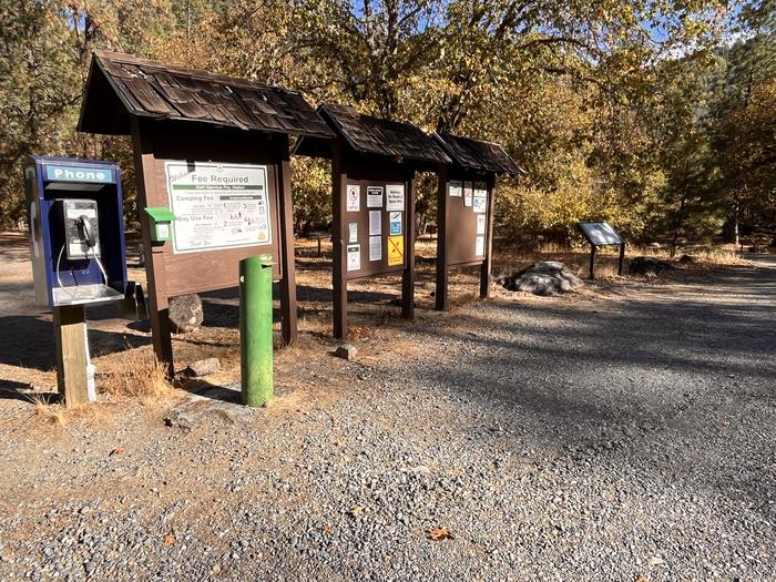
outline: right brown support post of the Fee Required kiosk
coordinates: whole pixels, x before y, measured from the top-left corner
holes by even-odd
[[[296,341],[296,265],[294,261],[294,202],[292,201],[290,186],[290,154],[288,151],[288,136],[280,139],[280,159],[277,164],[278,198],[280,207],[278,222],[280,223],[280,263],[283,278],[280,279],[280,314],[283,328],[283,343],[290,346]],[[320,244],[320,243],[318,243]]]

